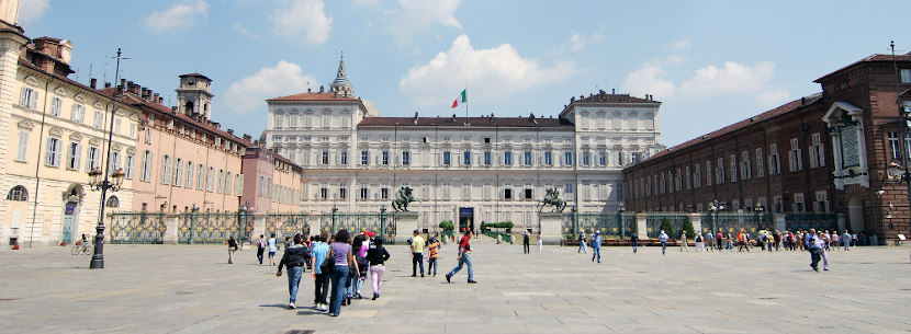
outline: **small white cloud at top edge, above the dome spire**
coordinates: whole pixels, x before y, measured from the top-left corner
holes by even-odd
[[[326,43],[333,18],[326,15],[322,0],[283,0],[280,3],[271,18],[277,33],[300,36],[311,45]]]

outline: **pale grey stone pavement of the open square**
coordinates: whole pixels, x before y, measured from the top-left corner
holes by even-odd
[[[477,285],[412,278],[405,246],[389,250],[382,297],[330,318],[311,309],[305,279],[288,310],[288,280],[252,247],[227,264],[223,245],[105,245],[105,269],[69,247],[0,251],[2,333],[766,333],[911,331],[909,247],[832,251],[814,273],[802,252],[682,253],[474,241]],[[591,252],[591,250],[589,250]],[[280,255],[281,253],[279,253]],[[364,296],[371,296],[368,284]]]

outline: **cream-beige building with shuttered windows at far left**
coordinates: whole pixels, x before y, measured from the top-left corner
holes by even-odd
[[[72,43],[30,39],[10,23],[13,5],[0,2],[0,240],[30,246],[94,235],[101,198],[88,172],[133,172],[138,113],[67,78]],[[108,193],[108,208],[133,206],[132,183],[127,177],[123,189]]]

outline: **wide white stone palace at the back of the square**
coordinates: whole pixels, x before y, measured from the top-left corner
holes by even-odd
[[[269,148],[304,170],[308,211],[390,209],[402,186],[424,228],[513,221],[537,230],[547,188],[571,208],[616,210],[622,166],[657,152],[660,102],[604,91],[559,116],[381,117],[355,97],[344,60],[329,90],[267,100]]]

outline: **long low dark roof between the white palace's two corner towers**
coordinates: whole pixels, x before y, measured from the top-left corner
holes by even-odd
[[[531,117],[364,117],[358,127],[364,126],[453,126],[464,127],[559,127],[572,126],[561,118]]]

